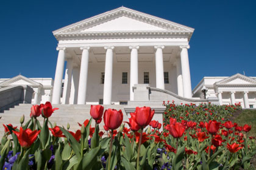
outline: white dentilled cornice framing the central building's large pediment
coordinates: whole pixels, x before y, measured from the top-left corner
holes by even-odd
[[[95,25],[111,21],[115,18],[126,16],[147,24],[151,24],[164,29],[162,30],[140,30],[140,31],[116,31],[116,32],[81,32],[84,29],[89,29]],[[176,22],[128,9],[119,7],[118,9],[93,16],[88,19],[76,22],[74,24],[63,27],[62,29],[53,32],[55,38],[61,39],[99,39],[99,38],[191,38],[194,29],[185,25],[177,24]]]

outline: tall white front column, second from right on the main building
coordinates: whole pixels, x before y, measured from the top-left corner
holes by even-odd
[[[163,78],[163,49],[165,46],[155,46],[155,79],[158,89],[165,89],[165,80]]]

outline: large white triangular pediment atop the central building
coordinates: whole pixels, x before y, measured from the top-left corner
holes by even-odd
[[[119,7],[100,15],[55,30],[55,37],[79,33],[107,32],[179,32],[192,35],[194,29],[126,7]]]

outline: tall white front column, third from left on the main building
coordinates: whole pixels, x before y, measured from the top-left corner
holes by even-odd
[[[111,104],[112,101],[112,72],[113,72],[113,49],[115,47],[104,47],[107,49],[105,58],[105,77],[103,104]]]

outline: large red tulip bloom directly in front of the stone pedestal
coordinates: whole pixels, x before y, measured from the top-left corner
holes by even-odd
[[[146,127],[152,120],[155,110],[151,110],[151,107],[136,107],[135,110],[136,121],[140,127]]]

